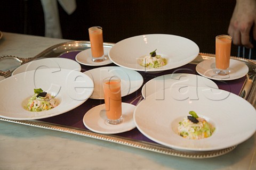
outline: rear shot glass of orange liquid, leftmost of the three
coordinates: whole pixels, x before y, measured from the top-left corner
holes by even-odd
[[[91,43],[92,61],[102,62],[105,60],[103,50],[103,35],[101,27],[91,27],[89,30],[89,37]]]

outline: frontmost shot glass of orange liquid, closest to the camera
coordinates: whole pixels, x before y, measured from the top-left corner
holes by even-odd
[[[116,76],[103,79],[103,91],[107,122],[109,124],[121,123],[123,121],[121,80]]]

